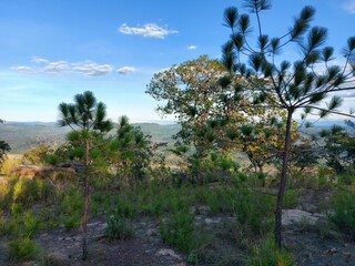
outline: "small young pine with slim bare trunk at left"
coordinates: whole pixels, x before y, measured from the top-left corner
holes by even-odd
[[[82,248],[83,259],[87,259],[87,223],[89,216],[89,166],[91,164],[90,150],[92,149],[92,140],[103,136],[104,133],[112,130],[113,125],[110,120],[106,120],[106,108],[102,102],[98,102],[93,93],[85,91],[82,94],[74,96],[74,103],[59,104],[60,126],[70,126],[72,132],[68,137],[71,141],[77,141],[81,144],[84,151],[85,182],[84,182],[84,211],[82,216]],[[79,153],[80,150],[78,150]]]

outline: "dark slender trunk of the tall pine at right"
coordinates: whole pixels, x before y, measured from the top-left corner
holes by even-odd
[[[277,203],[276,203],[276,211],[275,211],[275,232],[274,232],[275,243],[280,249],[282,244],[282,235],[281,235],[282,206],[283,206],[283,200],[284,200],[286,181],[287,181],[287,164],[288,164],[290,146],[291,146],[291,126],[292,126],[293,112],[294,112],[293,109],[287,110],[285,146],[283,151],[282,172],[281,172],[281,180],[278,185]]]

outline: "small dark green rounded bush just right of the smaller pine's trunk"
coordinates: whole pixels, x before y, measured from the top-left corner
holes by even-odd
[[[133,237],[133,228],[125,217],[113,214],[108,218],[105,236],[110,239],[128,239]]]

